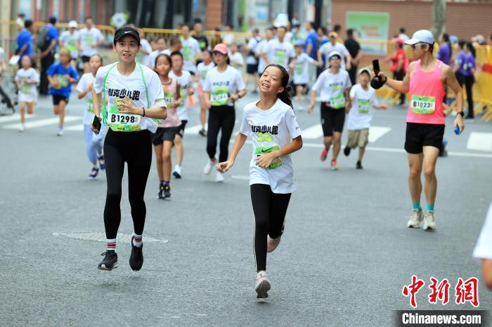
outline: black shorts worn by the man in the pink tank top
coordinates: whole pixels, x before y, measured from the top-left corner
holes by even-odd
[[[406,124],[405,151],[410,154],[422,153],[423,147],[441,148],[446,125]]]

